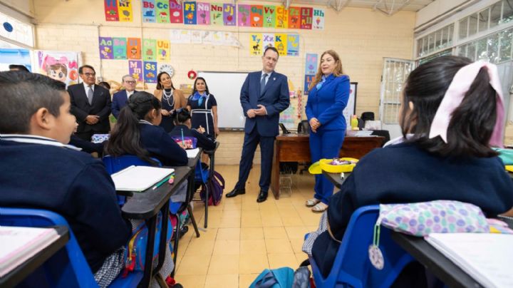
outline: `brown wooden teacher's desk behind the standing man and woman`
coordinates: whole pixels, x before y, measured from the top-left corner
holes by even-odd
[[[271,172],[271,191],[276,200],[279,199],[279,163],[311,162],[309,140],[308,134],[281,134],[276,137]],[[380,148],[384,140],[380,136],[346,136],[339,156],[360,159],[374,148]]]

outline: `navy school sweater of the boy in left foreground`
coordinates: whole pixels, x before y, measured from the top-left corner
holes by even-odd
[[[48,138],[16,138],[33,143],[1,135],[0,206],[51,210],[63,216],[96,272],[106,257],[128,242],[132,229],[121,217],[105,166]]]

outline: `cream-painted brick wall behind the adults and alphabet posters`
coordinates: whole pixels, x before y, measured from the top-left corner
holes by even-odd
[[[240,3],[244,4],[244,1]],[[276,5],[264,1],[261,4]],[[175,86],[179,86],[181,83],[193,83],[187,78],[187,71],[190,69],[259,70],[261,58],[249,56],[250,33],[299,33],[300,56],[281,57],[276,71],[286,74],[296,89],[302,89],[305,53],[320,54],[334,49],[341,56],[344,72],[350,76],[351,81],[358,82],[357,114],[373,111],[378,116],[383,57],[412,58],[415,13],[402,11],[393,16],[385,16],[371,9],[345,8],[340,12],[325,9],[326,28],[323,31],[304,31],[142,24],[140,1],[134,1],[133,23],[106,22],[103,1],[100,0],[34,0],[36,48],[82,51],[83,63],[94,66],[104,79],[120,81],[121,76],[128,73],[128,61],[100,61],[98,36],[168,38],[169,29],[215,29],[237,34],[242,48],[171,44],[171,64],[176,71],[172,80]],[[154,85],[148,85],[148,91],[152,92],[154,88]],[[219,113],[223,113],[222,107],[219,107]],[[242,140],[241,132],[222,132],[219,136],[222,145],[217,154],[217,163],[237,164]],[[255,163],[259,163],[259,155],[255,155]]]

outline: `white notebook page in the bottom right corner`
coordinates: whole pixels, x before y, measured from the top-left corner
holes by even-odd
[[[425,240],[484,287],[513,287],[513,235],[433,233]]]

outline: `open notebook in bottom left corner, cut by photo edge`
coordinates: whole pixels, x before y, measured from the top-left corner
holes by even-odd
[[[0,277],[58,239],[53,228],[0,226]]]

